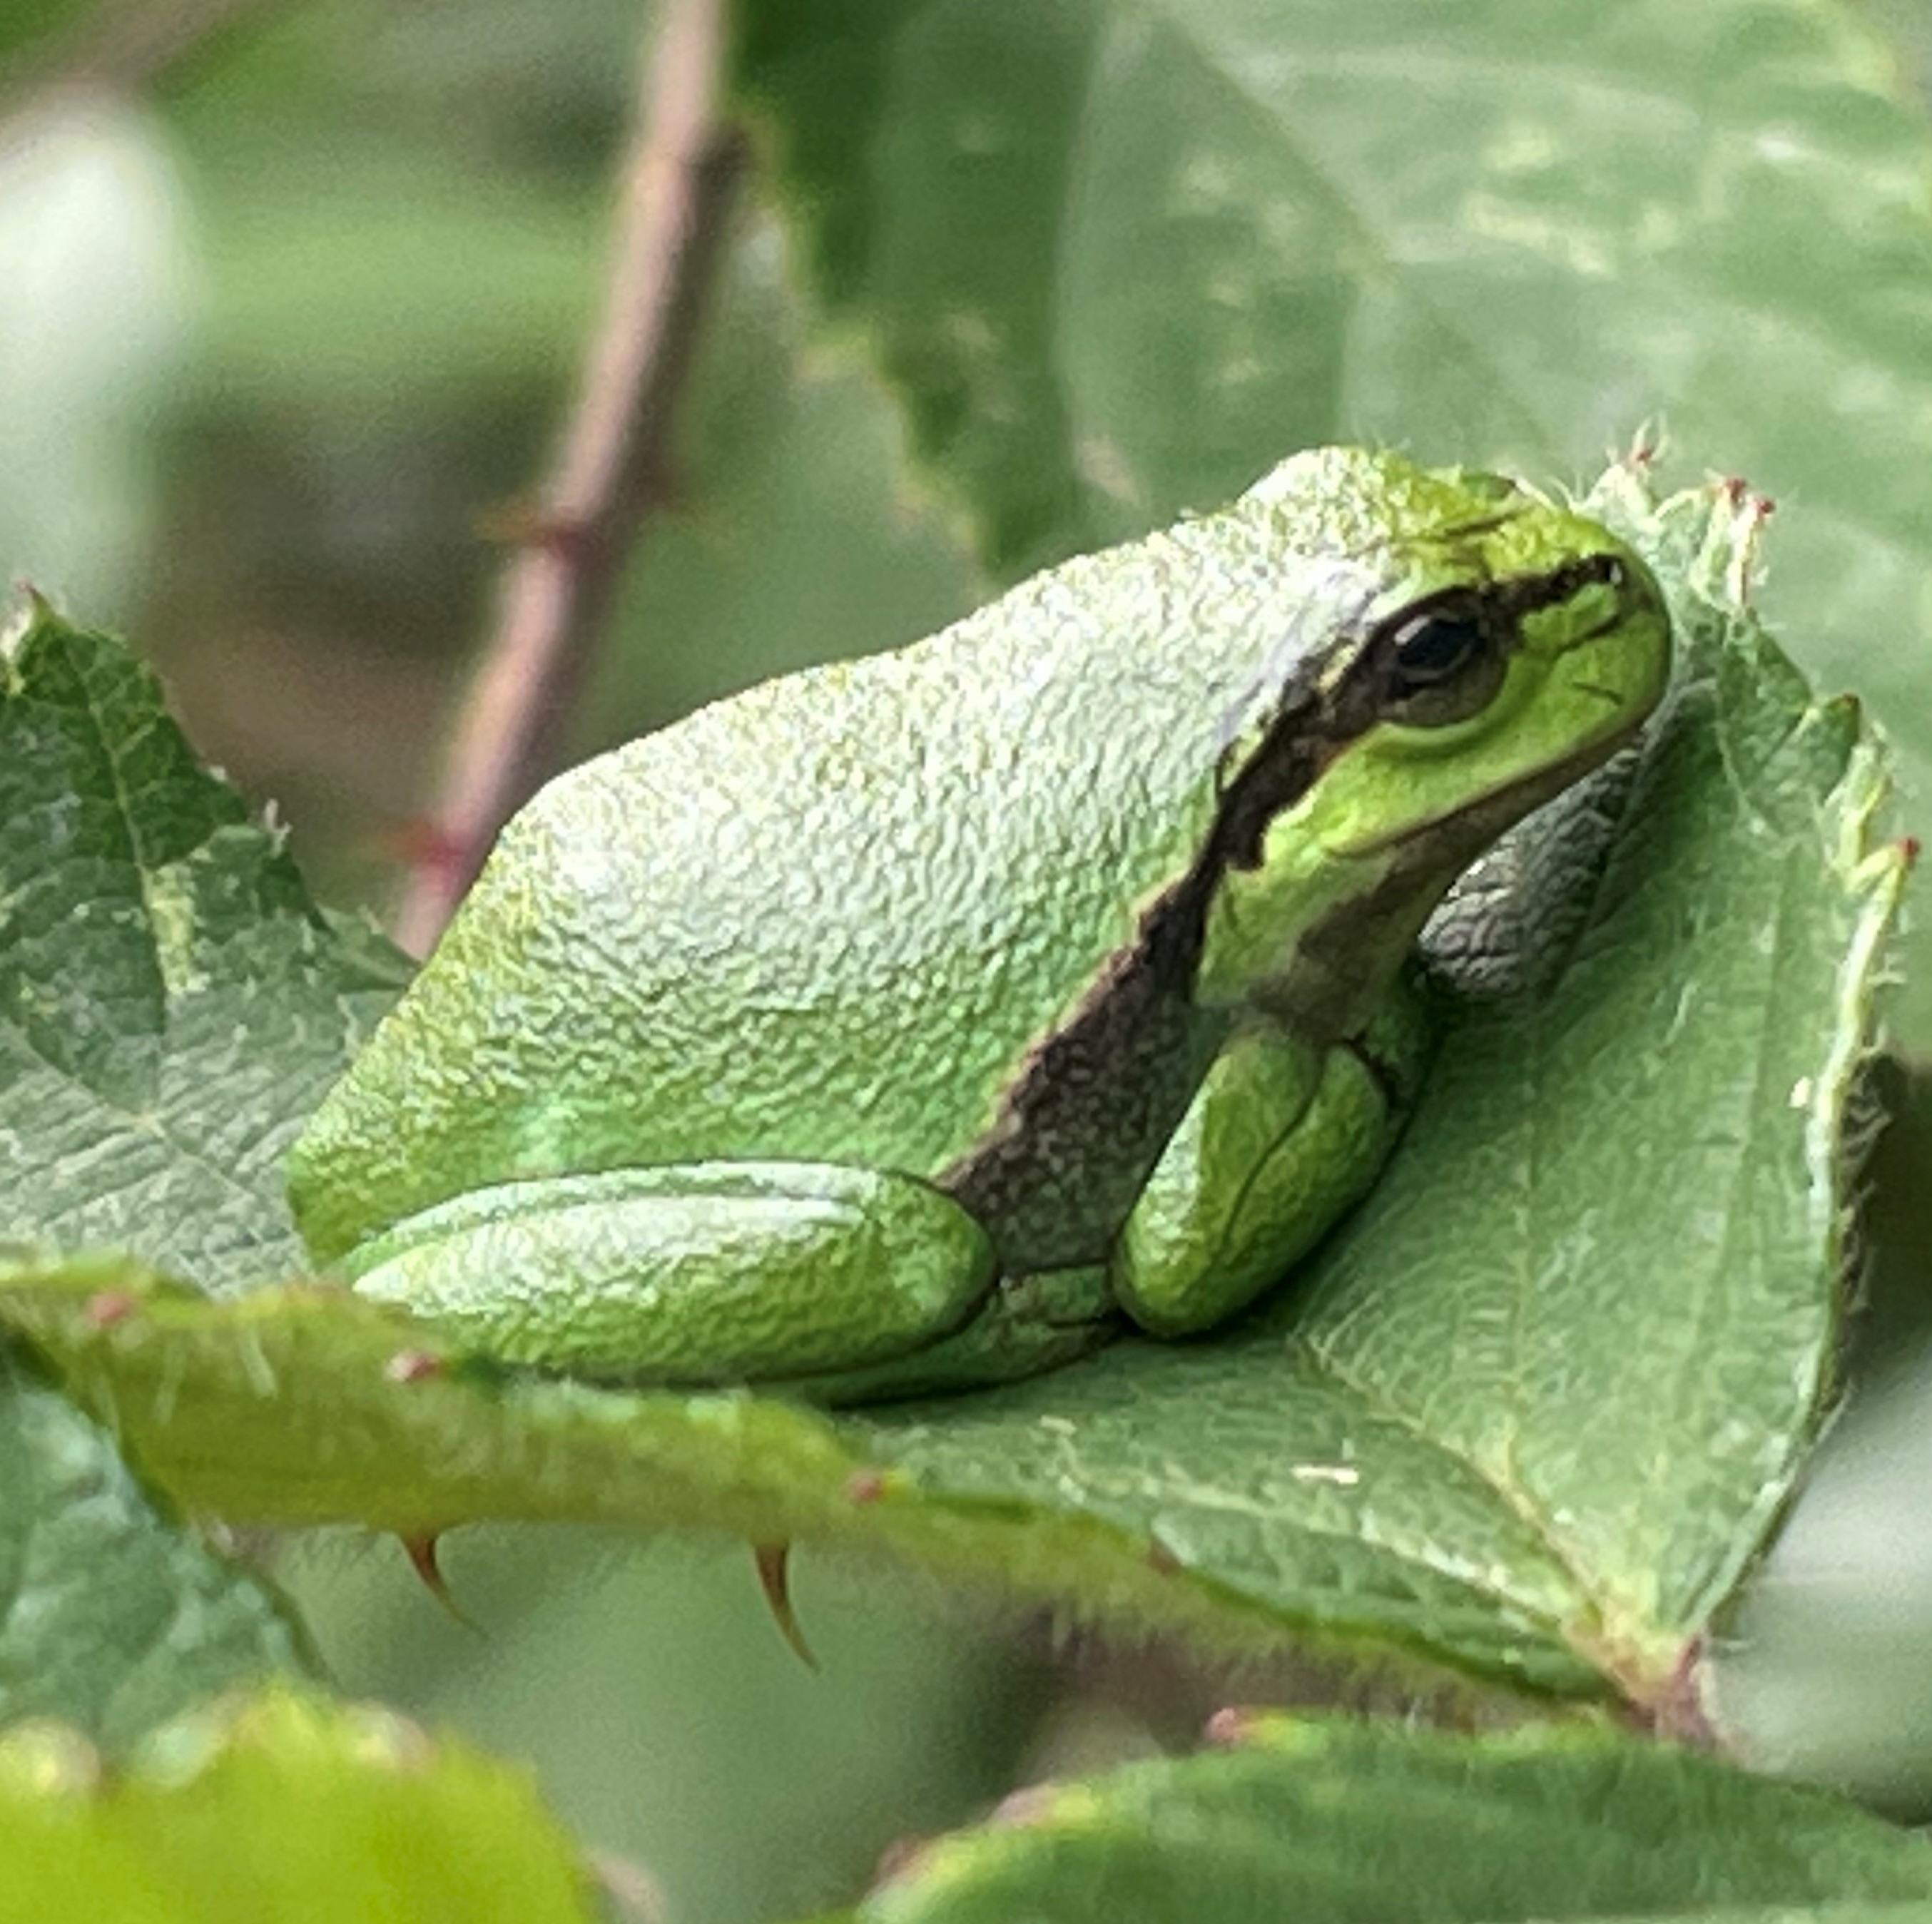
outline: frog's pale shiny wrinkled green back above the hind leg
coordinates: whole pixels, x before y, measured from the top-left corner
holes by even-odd
[[[553,782],[303,1142],[299,1188],[354,1159],[336,1240],[512,1176],[964,1157],[1198,852],[1296,624],[1360,601],[1293,516],[1086,556]]]

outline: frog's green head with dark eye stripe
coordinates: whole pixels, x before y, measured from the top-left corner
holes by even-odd
[[[1325,531],[1325,632],[1296,639],[1227,750],[1198,993],[1347,1026],[1455,877],[1631,740],[1671,630],[1642,560],[1569,506],[1497,475],[1310,458],[1358,469],[1354,512]]]

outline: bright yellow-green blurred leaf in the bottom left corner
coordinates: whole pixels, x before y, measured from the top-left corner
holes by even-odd
[[[388,1712],[286,1694],[156,1731],[116,1775],[70,1731],[17,1729],[0,1831],[8,1924],[603,1914],[518,1773]]]

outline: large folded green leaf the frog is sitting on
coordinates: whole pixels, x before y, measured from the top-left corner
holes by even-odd
[[[1658,506],[1631,469],[1596,504],[1669,585],[1673,693],[1439,927],[1464,991],[1410,1140],[1244,1327],[831,1426],[477,1377],[328,1294],[102,1321],[99,1279],[43,1269],[0,1314],[195,1511],[887,1542],[1124,1623],[1696,1727],[1698,1636],[1828,1397],[1843,1111],[1905,858],[1872,842],[1855,705],[1812,703],[1735,599],[1748,504]]]

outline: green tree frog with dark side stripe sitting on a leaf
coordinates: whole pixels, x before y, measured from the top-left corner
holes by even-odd
[[[1206,1331],[1374,1182],[1414,939],[1658,701],[1596,522],[1316,448],[551,782],[296,1146],[514,1364],[862,1401]]]

